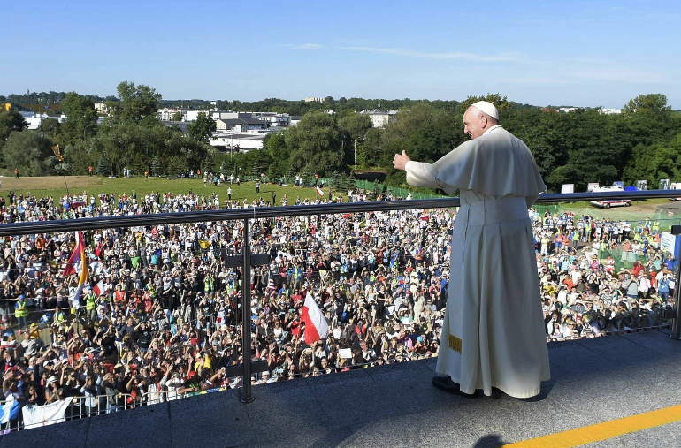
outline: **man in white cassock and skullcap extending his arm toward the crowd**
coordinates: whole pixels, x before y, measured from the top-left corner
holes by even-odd
[[[530,149],[499,125],[494,104],[474,103],[463,125],[471,140],[435,163],[394,156],[409,185],[461,192],[437,364],[446,376],[432,384],[461,395],[491,395],[495,387],[529,398],[550,377],[527,212],[546,186]]]

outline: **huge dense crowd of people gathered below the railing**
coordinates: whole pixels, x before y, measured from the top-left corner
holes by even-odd
[[[367,200],[348,193],[349,201]],[[0,207],[6,223],[340,200],[10,194]],[[662,310],[671,304],[675,268],[658,223],[529,216],[548,340],[667,323]],[[448,282],[455,217],[455,209],[417,209],[254,219],[251,250],[269,254],[269,264],[249,278],[224,262],[241,254],[239,220],[84,232],[91,287],[75,303],[80,274],[63,276],[73,232],[0,240],[4,399],[27,406],[83,397],[80,407],[97,414],[239,387],[241,377],[226,368],[244,361],[243,321],[252,361],[268,364],[252,383],[437,356],[448,288],[456,287]],[[311,345],[301,320],[308,292],[330,329]]]

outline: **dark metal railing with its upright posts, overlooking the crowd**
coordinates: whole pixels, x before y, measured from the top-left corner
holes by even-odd
[[[556,202],[576,202],[576,201],[608,201],[608,200],[635,200],[642,201],[655,198],[676,198],[677,190],[651,190],[651,191],[617,191],[599,193],[571,193],[571,194],[541,194],[536,203],[556,203]],[[299,205],[287,207],[270,208],[249,208],[249,209],[217,209],[200,210],[182,213],[167,213],[157,215],[136,215],[136,216],[102,216],[92,218],[68,219],[61,221],[42,221],[34,223],[15,223],[0,224],[0,238],[16,235],[26,235],[30,233],[48,232],[73,232],[88,231],[103,228],[123,228],[142,225],[162,225],[162,224],[187,224],[212,221],[233,221],[243,220],[244,242],[241,256],[241,267],[243,278],[250,278],[251,251],[249,248],[249,221],[251,219],[287,217],[287,216],[312,216],[312,215],[332,215],[347,213],[368,213],[374,211],[392,211],[407,209],[445,209],[459,207],[459,198],[445,199],[426,199],[410,201],[378,201],[378,202],[341,202],[319,205]],[[681,234],[681,225],[673,226],[672,233]],[[237,257],[232,258],[236,262]],[[679,307],[679,290],[681,290],[681,269],[677,270],[677,287],[675,288],[676,308],[673,313],[669,313],[673,319],[670,338],[681,340],[681,307]],[[242,282],[242,307],[243,315],[251,315],[251,290],[249,282]],[[666,315],[665,315],[666,317]],[[241,370],[241,376],[245,380],[250,378],[251,373],[257,373],[267,368],[266,362],[249,361],[252,359],[250,351],[251,334],[250,331],[243,331],[243,359],[241,366],[233,366]],[[264,364],[264,365],[263,365]],[[242,381],[243,388],[241,401],[249,403],[253,401],[251,394],[250,381]]]

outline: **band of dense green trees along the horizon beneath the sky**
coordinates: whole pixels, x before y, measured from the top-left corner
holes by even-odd
[[[245,178],[265,173],[270,178],[315,175],[348,176],[352,168],[386,171],[387,184],[406,186],[404,172],[394,171],[395,153],[434,162],[456,148],[463,134],[463,112],[481,99],[497,105],[501,125],[532,150],[549,191],[573,183],[584,191],[589,182],[612,185],[639,179],[655,186],[660,178],[681,181],[681,116],[670,110],[664,95],[639,95],[619,115],[597,109],[570,113],[545,111],[514,103],[499,94],[470,96],[462,102],[363,100],[327,97],[324,103],[265,99],[230,102],[220,109],[295,112],[302,120],[285,132],[265,138],[264,147],[248,153],[221,154],[210,146],[212,118],[201,115],[187,133],[162,125],[156,116],[160,94],[152,87],[121,82],[118,95],[107,101],[110,116],[97,125],[94,102],[70,92],[61,103],[67,119],[48,119],[38,131],[27,131],[17,112],[0,113],[0,163],[27,175],[99,174],[177,175],[187,170],[235,173]],[[374,128],[359,110],[397,109],[394,121]],[[292,109],[293,108],[293,109]],[[327,110],[336,110],[329,114]],[[64,160],[51,147],[59,145]]]

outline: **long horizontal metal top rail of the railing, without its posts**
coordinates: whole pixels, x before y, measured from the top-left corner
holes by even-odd
[[[576,202],[576,201],[643,201],[656,198],[681,197],[679,190],[650,190],[636,192],[600,192],[541,194],[537,203]],[[418,199],[409,201],[378,202],[341,202],[333,204],[297,205],[287,207],[265,207],[249,209],[198,210],[180,213],[161,213],[156,215],[101,216],[80,219],[62,219],[31,223],[0,224],[0,237],[28,235],[31,233],[57,233],[91,231],[117,227],[136,227],[143,225],[186,224],[212,221],[232,221],[235,219],[257,219],[269,217],[333,215],[341,213],[366,213],[370,211],[390,211],[409,209],[444,209],[459,207],[459,198]]]

